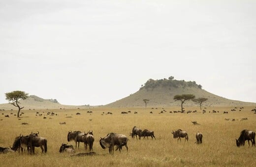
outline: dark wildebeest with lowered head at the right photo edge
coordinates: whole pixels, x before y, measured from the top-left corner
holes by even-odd
[[[236,145],[240,147],[241,145],[245,145],[245,141],[248,140],[248,144],[250,146],[250,142],[252,142],[252,146],[255,146],[255,132],[250,130],[243,130],[240,133],[240,137],[236,139]]]

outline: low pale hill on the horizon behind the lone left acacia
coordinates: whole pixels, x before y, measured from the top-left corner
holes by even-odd
[[[62,105],[58,103],[56,99],[42,99],[38,96],[31,95],[26,100],[21,100],[21,107],[24,107],[24,110],[29,109],[76,109],[76,108],[86,108],[86,106],[69,106],[69,105]],[[6,103],[0,104],[0,109],[4,110],[16,110],[17,108],[13,105]]]

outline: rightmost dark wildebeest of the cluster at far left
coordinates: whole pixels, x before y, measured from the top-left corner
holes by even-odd
[[[31,154],[34,154],[34,147],[40,147],[43,152],[47,152],[47,139],[38,137],[37,134],[30,134],[29,135],[29,146],[31,149]]]

